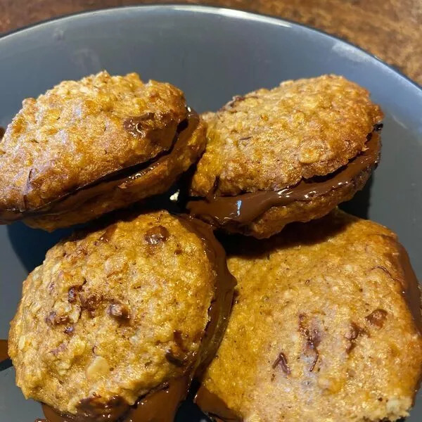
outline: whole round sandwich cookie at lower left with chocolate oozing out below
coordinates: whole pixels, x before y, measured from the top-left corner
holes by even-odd
[[[76,234],[23,285],[16,382],[51,421],[171,422],[217,350],[233,288],[203,222],[162,211]]]

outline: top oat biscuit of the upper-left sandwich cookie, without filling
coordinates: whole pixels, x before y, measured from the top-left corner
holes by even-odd
[[[108,72],[27,98],[0,143],[0,211],[28,211],[172,147],[188,111],[172,84]]]

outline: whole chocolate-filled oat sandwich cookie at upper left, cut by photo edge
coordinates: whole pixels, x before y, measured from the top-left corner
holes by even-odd
[[[53,230],[169,188],[205,148],[171,84],[107,72],[27,98],[0,143],[0,222]]]

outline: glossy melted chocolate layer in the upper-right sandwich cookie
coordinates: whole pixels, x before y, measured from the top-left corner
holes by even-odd
[[[260,217],[271,207],[286,206],[296,201],[309,202],[326,195],[337,188],[356,184],[362,172],[371,170],[378,163],[380,153],[379,135],[373,132],[366,142],[366,151],[350,160],[334,174],[323,179],[302,180],[299,184],[281,191],[257,191],[238,196],[212,196],[191,200],[187,208],[191,215],[207,222],[224,226],[232,222],[247,225]]]

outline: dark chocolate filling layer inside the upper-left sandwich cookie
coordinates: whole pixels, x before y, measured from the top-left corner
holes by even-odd
[[[199,124],[199,116],[194,110],[188,109],[186,120],[181,122],[177,127],[177,132],[174,136],[172,147],[158,155],[157,157],[147,162],[142,162],[139,165],[127,167],[117,172],[107,174],[100,179],[97,179],[91,184],[79,186],[70,193],[67,193],[56,200],[51,201],[46,205],[34,208],[32,210],[18,210],[8,209],[0,210],[0,224],[7,224],[18,219],[37,217],[41,215],[61,215],[72,210],[77,210],[82,204],[93,198],[101,196],[115,188],[124,189],[125,184],[132,180],[143,177],[147,172],[154,170],[158,165],[165,164],[174,156],[178,156],[181,151],[186,148],[189,139]],[[170,170],[169,177],[176,177],[177,174],[172,174]]]

